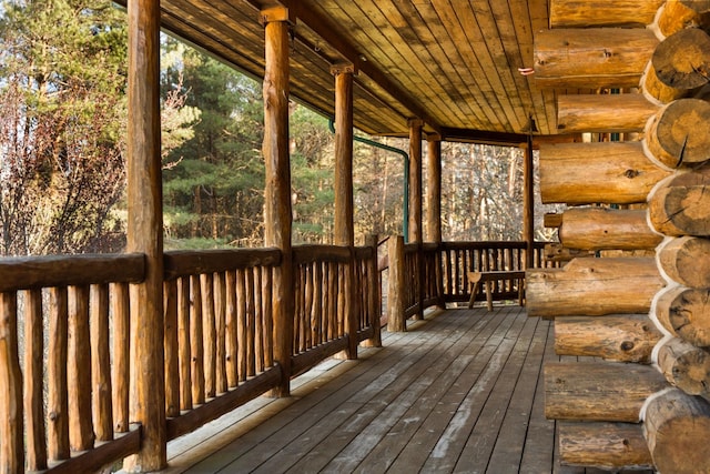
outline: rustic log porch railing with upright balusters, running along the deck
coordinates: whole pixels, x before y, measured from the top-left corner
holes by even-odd
[[[467,271],[517,270],[520,242],[403,246],[405,311],[465,301]],[[536,265],[545,264],[536,244]],[[165,434],[171,440],[329,355],[376,341],[377,246],[296,246],[291,372],[274,360],[276,249],[164,255]],[[95,471],[134,454],[130,284],[142,254],[0,260],[0,464]],[[515,289],[500,284],[496,295]],[[351,336],[352,335],[352,336]],[[349,352],[348,352],[349,351]]]

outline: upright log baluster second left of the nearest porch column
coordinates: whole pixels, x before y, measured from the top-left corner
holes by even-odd
[[[109,285],[91,285],[91,389],[93,430],[98,441],[113,440],[111,353],[109,351]]]

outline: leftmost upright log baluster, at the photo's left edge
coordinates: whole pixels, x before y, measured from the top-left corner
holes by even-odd
[[[24,470],[22,372],[16,292],[0,293],[0,471]]]

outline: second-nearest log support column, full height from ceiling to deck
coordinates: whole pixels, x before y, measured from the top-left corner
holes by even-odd
[[[293,261],[291,248],[291,163],[288,157],[288,10],[261,12],[265,26],[264,143],[266,164],[264,192],[264,244],[281,250],[283,259],[274,269],[273,321],[274,361],[282,369],[276,396],[288,396],[293,334]]]

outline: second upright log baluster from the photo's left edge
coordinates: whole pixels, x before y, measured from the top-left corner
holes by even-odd
[[[26,462],[28,471],[47,468],[44,404],[42,401],[43,354],[42,291],[29,290],[24,292],[24,416],[27,418]],[[0,435],[0,440],[3,438]]]

